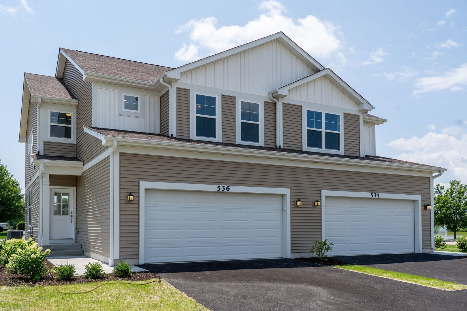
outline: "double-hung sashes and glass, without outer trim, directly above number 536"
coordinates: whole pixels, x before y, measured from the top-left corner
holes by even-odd
[[[195,136],[218,138],[218,103],[216,96],[195,94]]]

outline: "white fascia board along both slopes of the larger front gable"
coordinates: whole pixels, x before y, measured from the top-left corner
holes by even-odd
[[[319,64],[315,59],[313,59],[308,53],[306,53],[302,48],[300,48],[295,42],[290,40],[289,37],[284,35],[282,32],[278,32],[276,34],[269,35],[267,37],[264,37],[264,38],[261,38],[261,39],[255,40],[255,41],[245,43],[245,44],[243,44],[241,46],[238,46],[236,48],[231,48],[231,49],[226,50],[224,52],[220,52],[218,54],[211,55],[211,56],[208,56],[206,58],[200,59],[198,61],[191,62],[191,63],[188,63],[186,65],[177,67],[175,69],[169,70],[167,72],[168,78],[178,78],[178,79],[180,79],[180,74],[182,72],[189,71],[189,70],[204,66],[204,65],[209,64],[211,62],[217,62],[220,59],[223,59],[223,58],[226,58],[226,57],[241,53],[241,52],[246,51],[248,49],[258,47],[260,45],[263,45],[265,43],[268,43],[268,42],[271,42],[271,41],[274,41],[274,40],[277,40],[277,39],[280,39],[280,41],[283,41],[283,42],[287,42],[290,45],[290,47],[296,49],[296,51],[298,53],[303,55],[304,58],[307,59],[310,62],[310,64],[314,65],[318,70],[324,69],[324,67],[321,64]]]

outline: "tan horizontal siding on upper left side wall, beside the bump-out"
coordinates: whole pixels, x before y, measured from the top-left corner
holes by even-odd
[[[68,60],[63,80],[78,98],[76,107],[76,156],[85,164],[101,154],[107,146],[101,140],[86,134],[83,125],[92,126],[92,83],[83,81],[83,75]]]

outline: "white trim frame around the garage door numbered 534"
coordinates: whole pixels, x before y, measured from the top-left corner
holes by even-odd
[[[422,196],[413,194],[385,194],[378,193],[379,198],[371,198],[371,192],[331,191],[321,190],[321,239],[325,236],[325,208],[326,197],[369,198],[375,201],[380,199],[413,200],[415,225],[415,253],[422,253]]]

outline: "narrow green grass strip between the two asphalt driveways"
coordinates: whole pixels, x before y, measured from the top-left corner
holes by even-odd
[[[372,276],[380,276],[380,277],[385,277],[385,278],[389,278],[389,279],[393,279],[397,281],[433,287],[439,290],[465,290],[467,289],[467,285],[441,281],[441,280],[432,279],[432,278],[424,277],[424,276],[414,276],[414,275],[407,274],[407,273],[375,269],[375,268],[370,268],[370,267],[365,267],[365,266],[357,266],[357,265],[348,264],[348,265],[334,266],[334,267],[339,268],[339,269],[345,269],[345,270],[360,272],[364,274],[369,274]]]

